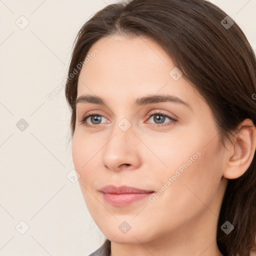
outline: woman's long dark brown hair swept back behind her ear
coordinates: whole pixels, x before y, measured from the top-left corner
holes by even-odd
[[[129,0],[109,4],[79,30],[70,61],[70,74],[98,39],[112,34],[146,36],[172,58],[183,77],[210,106],[218,135],[225,146],[245,118],[256,123],[256,59],[244,33],[227,14],[205,0]],[[230,20],[228,21],[230,22]],[[227,20],[224,19],[224,23]],[[230,23],[231,24],[231,23]],[[78,74],[66,82],[71,108],[71,136],[75,129]],[[234,229],[226,234],[228,220]],[[229,179],[218,224],[217,245],[225,256],[248,256],[256,249],[256,155],[249,168]]]

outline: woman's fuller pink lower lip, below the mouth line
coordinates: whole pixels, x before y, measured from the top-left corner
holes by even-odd
[[[103,198],[109,204],[114,206],[124,206],[128,205],[134,201],[143,199],[148,197],[153,192],[148,193],[126,193],[126,194],[110,194],[110,193],[103,193]]]

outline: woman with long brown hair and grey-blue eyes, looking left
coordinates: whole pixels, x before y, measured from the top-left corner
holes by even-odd
[[[65,95],[107,238],[90,255],[255,251],[255,70],[244,33],[204,0],[109,4],[81,27]]]

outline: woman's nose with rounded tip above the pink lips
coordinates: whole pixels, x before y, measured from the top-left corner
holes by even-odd
[[[118,171],[136,169],[141,163],[139,140],[133,133],[132,126],[123,131],[116,124],[102,148],[102,161],[106,168]]]

